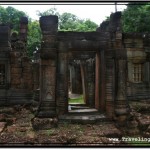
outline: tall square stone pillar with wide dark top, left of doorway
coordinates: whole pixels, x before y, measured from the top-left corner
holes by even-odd
[[[40,104],[38,117],[56,116],[56,37],[58,28],[57,16],[42,16],[40,27],[43,34],[40,60]]]

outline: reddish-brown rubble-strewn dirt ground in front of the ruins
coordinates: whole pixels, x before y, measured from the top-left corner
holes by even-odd
[[[35,130],[34,110],[15,106],[0,109],[0,146],[129,146],[115,141],[125,136],[114,122],[70,124],[59,122],[48,130]]]

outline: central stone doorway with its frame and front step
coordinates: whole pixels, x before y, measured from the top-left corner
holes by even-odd
[[[101,74],[103,74],[102,77],[104,76],[104,71],[100,71],[100,64],[103,64],[100,60],[100,53],[96,50],[86,51],[86,49],[80,51],[68,49],[67,51],[69,51],[66,53],[67,59],[64,61],[67,63],[64,63],[65,67],[63,66],[63,68],[67,68],[68,71],[65,69],[64,72],[66,72],[66,74],[63,76],[64,80],[62,81],[63,87],[66,87],[66,90],[63,90],[66,92],[64,95],[66,95],[67,99],[65,99],[65,97],[61,99],[62,101],[58,101],[60,99],[57,99],[59,104],[60,102],[61,104],[65,104],[66,111],[58,113],[58,118],[73,123],[95,123],[105,120],[106,116],[101,109],[104,98],[101,94],[103,91],[100,87],[103,82],[101,82],[100,78]],[[70,90],[69,84],[66,85],[66,82],[64,82],[67,81],[67,83],[69,83],[70,78],[72,78],[70,77],[72,76],[70,75],[70,65],[78,69],[76,72],[72,72],[74,73],[73,83],[75,85],[71,85],[78,85],[78,89],[71,87],[72,89]],[[101,67],[101,69],[103,68]],[[81,81],[78,82],[78,79]],[[61,85],[60,80],[59,84]],[[83,94],[83,103],[69,103],[69,90],[78,93],[78,95]],[[59,110],[62,109],[63,107],[59,107]]]

